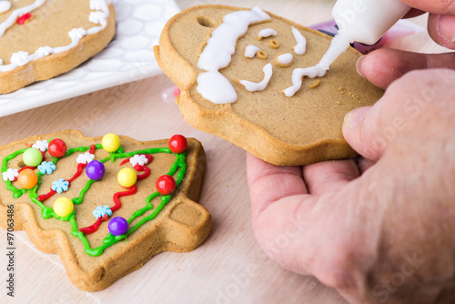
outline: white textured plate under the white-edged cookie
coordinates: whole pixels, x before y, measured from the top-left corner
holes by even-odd
[[[74,70],[0,95],[0,117],[161,73],[153,54],[173,0],[114,0],[116,36],[101,53]]]

